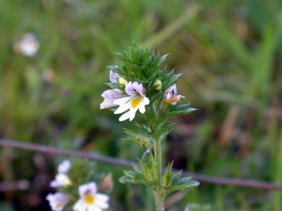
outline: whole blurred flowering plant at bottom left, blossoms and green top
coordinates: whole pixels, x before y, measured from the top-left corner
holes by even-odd
[[[98,191],[111,191],[111,174],[101,177],[93,172],[94,166],[84,160],[63,160],[58,174],[50,182],[56,193],[49,193],[46,199],[52,211],[101,211],[109,208],[109,196]],[[79,171],[78,171],[79,170]],[[96,182],[101,181],[99,186]]]

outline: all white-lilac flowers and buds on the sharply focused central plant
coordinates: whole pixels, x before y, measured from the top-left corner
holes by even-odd
[[[104,108],[118,108],[114,111],[115,114],[120,114],[119,121],[124,120],[133,120],[137,110],[140,113],[145,113],[145,106],[149,105],[150,100],[145,96],[145,87],[141,83],[138,82],[127,82],[123,77],[118,75],[118,73],[110,72],[110,81],[112,83],[119,83],[121,85],[125,85],[124,91],[120,89],[108,89],[103,92],[102,97],[104,101],[100,104],[100,109]],[[157,79],[154,84],[152,84],[156,90],[161,90],[161,81]],[[123,94],[126,93],[127,95]],[[176,106],[178,102],[180,102],[180,98],[185,98],[184,96],[177,95],[176,84],[171,87],[168,87],[166,91],[164,91],[164,103],[171,104],[171,106]],[[126,110],[128,112],[124,113]]]

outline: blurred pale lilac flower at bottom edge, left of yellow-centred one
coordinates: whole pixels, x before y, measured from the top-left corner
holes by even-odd
[[[70,196],[64,193],[49,193],[46,196],[46,200],[49,200],[49,205],[52,211],[62,211],[70,200]]]

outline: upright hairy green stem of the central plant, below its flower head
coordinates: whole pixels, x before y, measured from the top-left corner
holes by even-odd
[[[164,198],[161,196],[161,140],[159,137],[154,141],[154,166],[157,175],[157,188],[154,191],[154,198],[156,200],[156,210],[164,210]]]

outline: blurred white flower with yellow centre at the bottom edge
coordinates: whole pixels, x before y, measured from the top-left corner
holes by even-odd
[[[80,199],[73,206],[75,211],[102,211],[109,207],[109,196],[97,193],[94,182],[83,184],[78,188]]]

